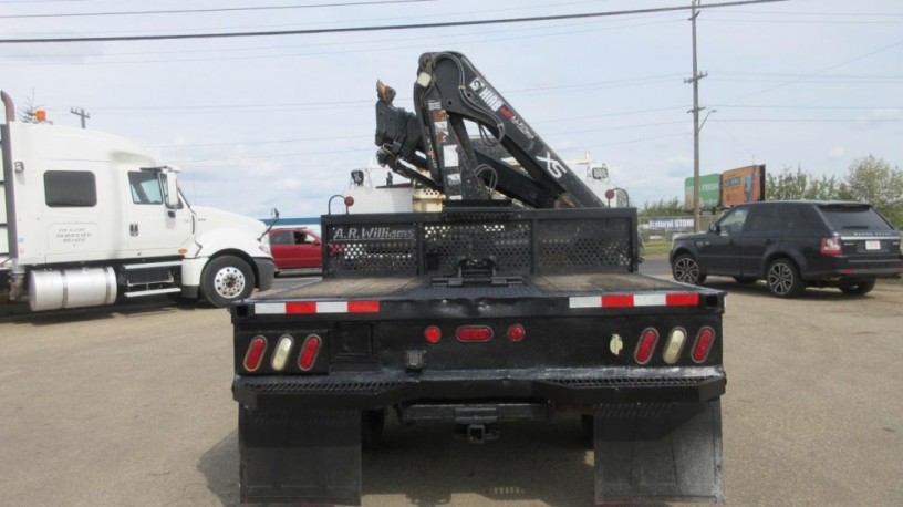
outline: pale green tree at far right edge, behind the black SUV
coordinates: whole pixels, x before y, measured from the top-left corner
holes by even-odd
[[[894,227],[903,227],[903,172],[881,158],[869,155],[853,161],[840,185],[840,197],[870,203]]]

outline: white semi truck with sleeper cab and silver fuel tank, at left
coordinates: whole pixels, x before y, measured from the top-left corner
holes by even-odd
[[[190,206],[176,170],[90,130],[6,123],[0,293],[32,311],[172,294],[225,307],[272,284],[261,221]],[[7,301],[4,301],[7,302]]]

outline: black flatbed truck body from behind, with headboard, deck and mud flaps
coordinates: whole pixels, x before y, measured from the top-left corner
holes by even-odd
[[[403,137],[380,108],[377,144]],[[402,144],[383,143],[387,165]],[[724,293],[640,275],[633,208],[531,209],[452,182],[464,198],[443,211],[323,216],[322,281],[231,308],[241,501],[360,504],[388,412],[477,443],[580,413],[596,503],[722,501]],[[585,200],[571,189],[548,199]]]

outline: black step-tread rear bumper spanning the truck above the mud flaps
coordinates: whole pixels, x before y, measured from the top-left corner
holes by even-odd
[[[720,368],[332,373],[236,376],[232,396],[249,408],[373,410],[414,400],[531,400],[593,405],[702,402],[725,392]]]

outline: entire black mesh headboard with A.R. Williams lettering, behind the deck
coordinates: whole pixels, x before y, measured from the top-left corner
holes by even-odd
[[[448,277],[461,260],[485,259],[498,276],[627,271],[634,224],[620,209],[324,216],[324,276]]]

